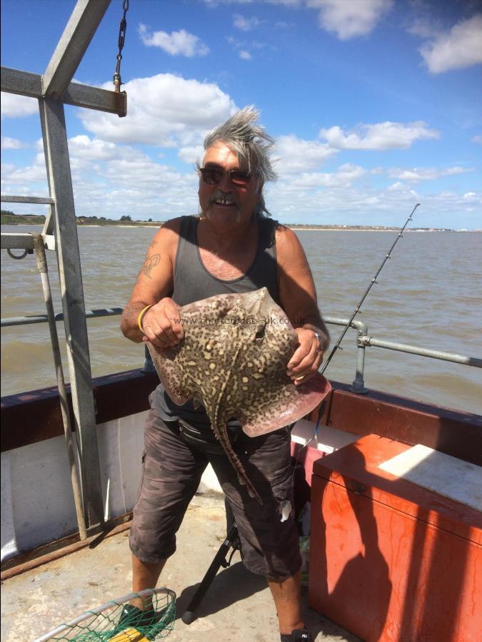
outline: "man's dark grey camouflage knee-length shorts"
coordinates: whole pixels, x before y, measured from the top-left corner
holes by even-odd
[[[164,422],[154,409],[146,418],[144,440],[142,479],[129,536],[138,559],[156,563],[174,554],[176,532],[210,462],[238,524],[246,568],[281,580],[299,571],[288,429],[254,438],[242,433],[233,444],[263,505],[239,484],[225,454],[208,454],[185,444],[177,422]],[[282,522],[286,501],[291,502],[292,510]]]

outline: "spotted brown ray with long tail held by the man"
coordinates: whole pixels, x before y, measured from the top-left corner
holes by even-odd
[[[318,373],[299,386],[287,376],[298,337],[266,287],[196,301],[179,316],[180,345],[158,351],[148,343],[159,378],[174,403],[194,399],[205,407],[239,481],[261,502],[231,448],[226,421],[239,419],[249,437],[272,432],[311,412],[331,386]]]

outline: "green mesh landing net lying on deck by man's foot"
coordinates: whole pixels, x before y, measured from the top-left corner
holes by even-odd
[[[146,608],[145,611],[133,608],[132,601],[135,598],[141,598],[145,604],[152,603],[152,608]],[[149,588],[86,611],[34,642],[149,642],[169,636],[175,619],[174,591],[169,588]]]

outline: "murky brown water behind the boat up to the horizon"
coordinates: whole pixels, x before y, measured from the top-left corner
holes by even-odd
[[[2,226],[2,232],[37,228]],[[155,233],[153,228],[79,228],[86,308],[123,307]],[[351,315],[391,247],[396,233],[298,231],[324,315]],[[56,312],[61,312],[55,255],[48,254]],[[33,255],[12,260],[2,252],[2,317],[44,314]],[[359,317],[372,337],[482,357],[482,234],[406,233],[373,286]],[[92,374],[141,367],[144,347],[119,332],[119,317],[88,320]],[[59,332],[62,330],[58,324]],[[341,327],[329,326],[332,345]],[[326,370],[328,379],[351,382],[355,333]],[[1,394],[55,384],[46,324],[1,330]],[[482,370],[370,347],[367,387],[482,414]]]

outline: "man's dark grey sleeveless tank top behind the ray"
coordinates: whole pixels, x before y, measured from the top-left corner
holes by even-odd
[[[183,216],[179,243],[174,263],[174,289],[171,297],[178,305],[188,305],[219,294],[243,293],[267,287],[271,298],[280,305],[278,294],[278,273],[276,264],[275,231],[278,221],[269,218],[258,222],[258,248],[253,263],[245,275],[225,281],[214,277],[201,261],[197,240],[199,218]],[[176,405],[159,386],[151,394],[151,404],[164,421],[185,419],[199,427],[209,428],[210,422],[204,407],[194,408],[192,401],[184,406]],[[238,422],[228,422],[236,427]]]

